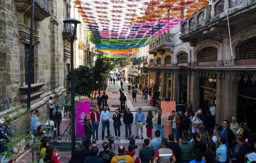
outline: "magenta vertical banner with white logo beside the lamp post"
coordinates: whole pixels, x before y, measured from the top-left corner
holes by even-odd
[[[90,101],[76,103],[76,138],[81,138],[84,134],[84,118],[90,113]]]

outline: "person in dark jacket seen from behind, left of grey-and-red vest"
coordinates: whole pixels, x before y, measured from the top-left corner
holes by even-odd
[[[138,157],[141,159],[141,163],[153,163],[154,160],[154,150],[153,148],[149,147],[149,139],[144,139],[143,147],[140,150]]]

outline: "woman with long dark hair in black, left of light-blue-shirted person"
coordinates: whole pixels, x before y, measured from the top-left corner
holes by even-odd
[[[216,145],[214,142],[209,141],[206,153],[204,153],[203,160],[207,163],[215,163]]]

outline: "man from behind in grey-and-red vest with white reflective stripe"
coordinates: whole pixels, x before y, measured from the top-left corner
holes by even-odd
[[[161,148],[157,150],[154,158],[154,162],[159,163],[175,163],[176,158],[173,151],[167,148],[168,142],[167,140],[163,139],[161,142]]]

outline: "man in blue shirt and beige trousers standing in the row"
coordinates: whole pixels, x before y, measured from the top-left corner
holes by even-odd
[[[136,112],[135,114],[135,125],[136,125],[136,137],[138,138],[138,129],[141,129],[141,139],[143,138],[143,125],[145,124],[145,115],[144,113],[141,111],[141,107],[138,107],[138,112]]]

